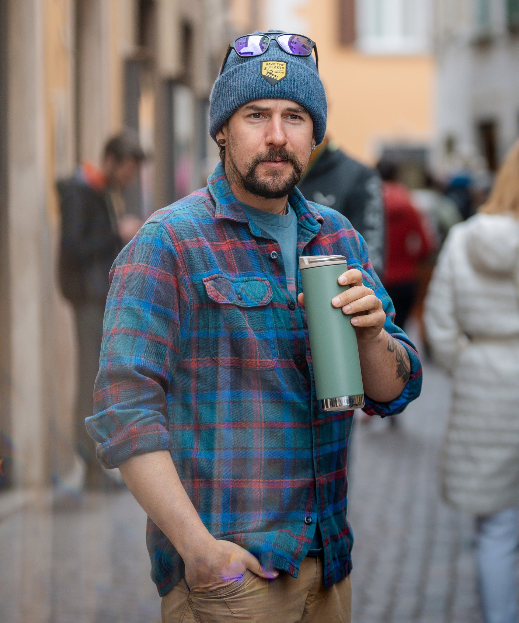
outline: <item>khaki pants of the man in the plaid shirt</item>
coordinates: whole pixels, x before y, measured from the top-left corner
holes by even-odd
[[[163,623],[350,623],[350,576],[323,586],[320,558],[303,559],[299,577],[280,571],[274,580],[246,571],[219,591],[189,591],[184,579],[161,604]]]

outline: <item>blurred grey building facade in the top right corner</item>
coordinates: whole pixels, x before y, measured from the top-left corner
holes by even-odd
[[[519,0],[436,0],[435,24],[437,167],[495,171],[519,136]]]

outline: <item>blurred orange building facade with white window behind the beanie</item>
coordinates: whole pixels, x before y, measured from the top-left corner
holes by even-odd
[[[234,0],[234,14],[249,4]],[[317,42],[328,133],[341,148],[369,163],[387,151],[424,161],[434,135],[432,0],[263,0],[256,10],[260,27]]]

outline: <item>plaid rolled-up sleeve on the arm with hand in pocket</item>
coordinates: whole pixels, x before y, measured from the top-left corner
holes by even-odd
[[[107,468],[171,449],[166,394],[189,326],[189,294],[168,232],[147,222],[110,273],[94,414],[85,421]]]

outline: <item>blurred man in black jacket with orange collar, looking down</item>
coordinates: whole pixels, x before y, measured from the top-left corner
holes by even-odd
[[[85,417],[93,414],[108,273],[142,224],[138,217],[125,214],[121,191],[135,179],[143,158],[136,132],[124,130],[107,142],[100,169],[84,163],[72,178],[57,183],[62,214],[60,285],[74,306],[77,328],[75,444],[91,485],[102,483],[103,476]]]

